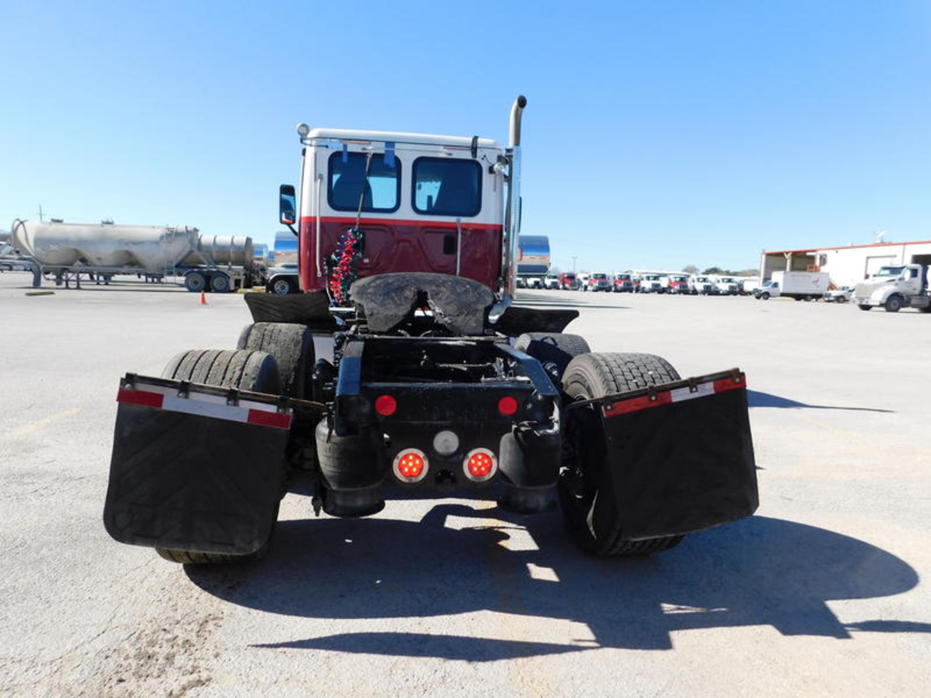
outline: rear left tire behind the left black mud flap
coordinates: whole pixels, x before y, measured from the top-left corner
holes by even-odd
[[[275,357],[264,352],[253,351],[221,351],[218,349],[190,349],[174,356],[165,370],[162,378],[175,381],[190,381],[191,383],[205,383],[221,388],[238,388],[240,390],[254,390],[259,393],[276,395],[280,389],[278,368]],[[284,496],[284,481],[287,463],[282,460],[278,477],[282,483],[282,496]],[[278,517],[278,503],[275,503],[270,512],[273,521]],[[200,553],[189,550],[170,550],[168,548],[155,548],[160,557],[171,562],[180,562],[183,565],[202,564],[230,564],[246,562],[265,557],[271,546],[275,525],[268,539],[254,553],[247,555],[230,555],[227,553]]]

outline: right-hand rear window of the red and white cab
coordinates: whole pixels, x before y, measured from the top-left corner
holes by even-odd
[[[476,216],[481,210],[481,166],[475,160],[418,157],[412,190],[417,213]]]

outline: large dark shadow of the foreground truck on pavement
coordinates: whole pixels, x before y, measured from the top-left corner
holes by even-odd
[[[689,536],[655,557],[601,559],[574,547],[558,514],[439,503],[420,522],[282,521],[262,562],[185,571],[209,594],[241,606],[373,625],[371,632],[256,642],[263,648],[484,662],[597,648],[669,650],[670,633],[690,628],[764,624],[785,636],[826,638],[931,632],[931,624],[909,621],[842,624],[827,600],[900,594],[918,584],[918,574],[873,545],[768,517]],[[486,610],[526,617],[529,625],[518,628],[533,628],[532,640],[476,638],[474,617],[459,628],[444,621],[446,634],[394,629],[419,631],[423,624],[410,619]],[[567,640],[565,624],[535,619],[586,624],[594,640]]]

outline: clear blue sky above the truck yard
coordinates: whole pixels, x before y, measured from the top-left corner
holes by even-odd
[[[931,238],[931,3],[0,0],[0,228],[269,241],[294,125],[506,141],[563,269]]]

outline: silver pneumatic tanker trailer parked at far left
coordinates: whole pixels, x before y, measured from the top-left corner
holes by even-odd
[[[179,276],[188,290],[222,293],[264,283],[264,267],[246,236],[200,235],[185,225],[20,220],[13,221],[12,236],[15,247],[59,284],[80,275],[105,283],[125,274]]]

